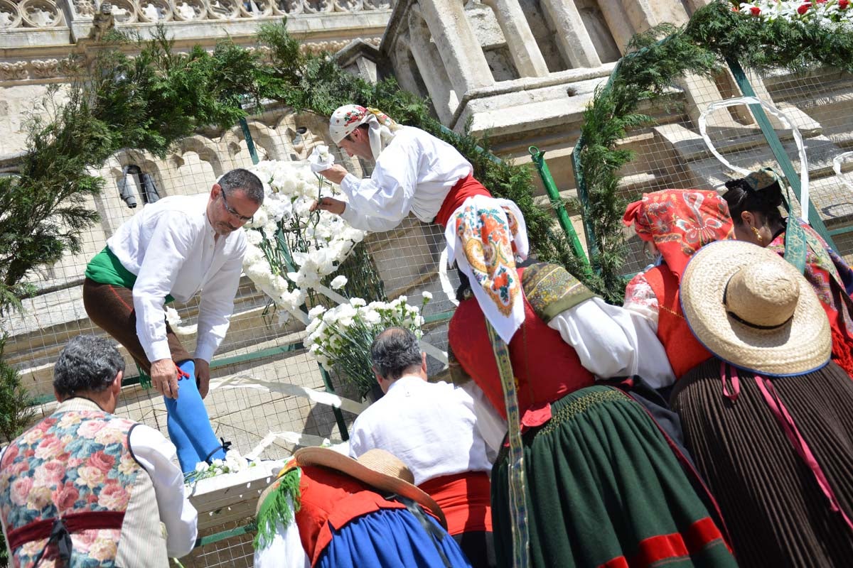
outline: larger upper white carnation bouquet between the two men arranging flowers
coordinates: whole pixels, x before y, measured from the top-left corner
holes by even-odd
[[[243,271],[281,308],[283,324],[287,313],[298,312],[308,290],[334,273],[365,233],[338,215],[310,210],[323,196],[341,196],[308,162],[264,161],[252,172],[264,182],[264,204],[246,224]]]

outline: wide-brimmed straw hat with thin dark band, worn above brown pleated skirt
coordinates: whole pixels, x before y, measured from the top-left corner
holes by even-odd
[[[827,364],[829,320],[811,284],[775,252],[742,241],[700,249],[681,284],[690,330],[711,353],[768,376]]]

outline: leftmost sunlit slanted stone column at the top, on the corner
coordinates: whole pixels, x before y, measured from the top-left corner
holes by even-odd
[[[421,0],[419,5],[456,95],[495,83],[461,0]]]

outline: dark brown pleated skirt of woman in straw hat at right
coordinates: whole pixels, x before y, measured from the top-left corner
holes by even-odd
[[[850,566],[853,530],[833,512],[751,373],[722,393],[720,360],[690,370],[673,390],[685,441],[716,496],[740,566]],[[779,399],[853,519],[853,381],[838,365],[772,378]]]

